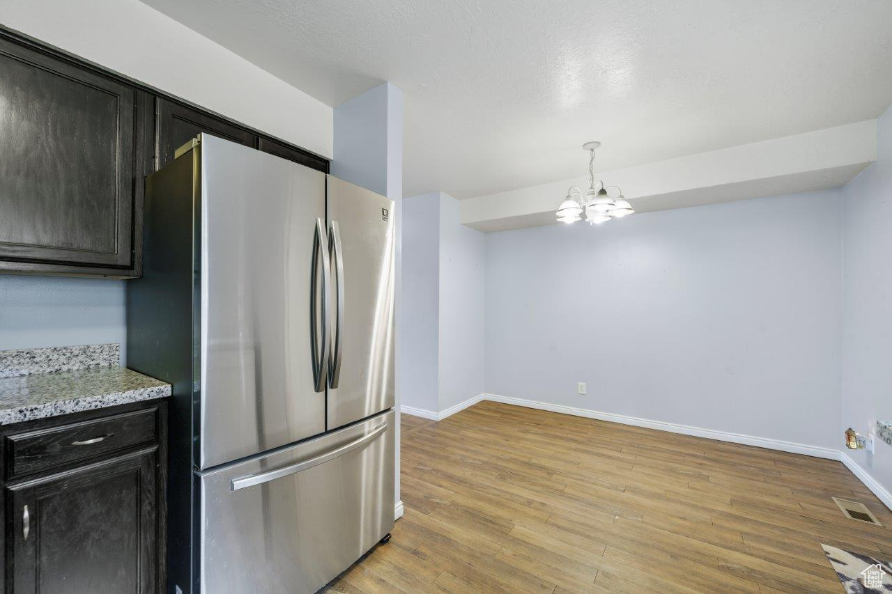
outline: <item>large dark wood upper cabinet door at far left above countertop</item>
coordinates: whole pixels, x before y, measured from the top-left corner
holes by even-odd
[[[0,37],[0,270],[128,276],[114,268],[133,267],[137,99]]]

